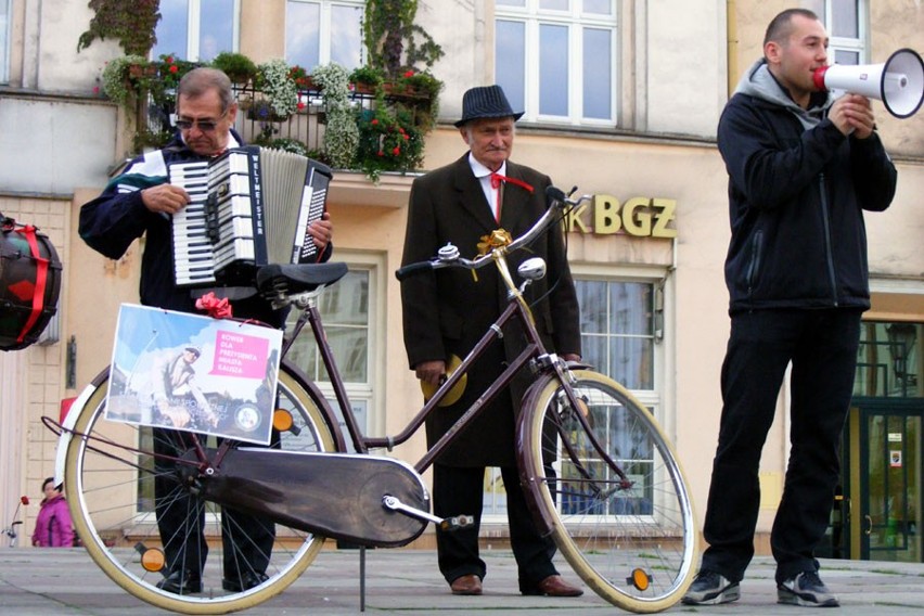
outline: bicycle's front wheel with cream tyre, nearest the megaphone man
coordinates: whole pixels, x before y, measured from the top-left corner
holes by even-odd
[[[600,596],[630,612],[666,609],[683,596],[697,557],[683,472],[652,414],[621,385],[573,374],[578,410],[555,378],[527,400],[519,426],[527,498]]]

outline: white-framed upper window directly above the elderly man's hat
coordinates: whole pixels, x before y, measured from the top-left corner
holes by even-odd
[[[495,26],[497,82],[524,119],[616,121],[614,0],[497,0]]]

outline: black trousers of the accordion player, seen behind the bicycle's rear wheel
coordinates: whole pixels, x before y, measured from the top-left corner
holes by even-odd
[[[179,457],[192,446],[190,433],[168,428],[153,429],[155,453]],[[200,436],[200,440],[205,442],[204,435]],[[275,433],[273,440],[278,440]],[[158,455],[154,464],[154,509],[167,569],[187,569],[193,574],[202,574],[208,555],[204,503],[180,486],[175,462]],[[243,574],[265,573],[274,540],[275,525],[272,522],[222,508],[224,577],[240,581]]]

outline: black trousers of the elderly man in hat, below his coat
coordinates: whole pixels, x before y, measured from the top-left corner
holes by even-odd
[[[515,466],[502,466],[506,490],[510,543],[519,572],[519,590],[534,589],[544,578],[557,574],[552,564],[555,542],[540,537],[526,504],[519,473]],[[452,582],[464,575],[485,577],[487,567],[478,555],[478,530],[484,504],[485,469],[435,464],[433,467],[433,509],[440,517],[472,515],[475,524],[453,532],[437,529],[436,547],[439,572]]]

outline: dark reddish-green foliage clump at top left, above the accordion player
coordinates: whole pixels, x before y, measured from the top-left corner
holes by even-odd
[[[113,38],[127,55],[146,56],[157,42],[154,28],[161,21],[161,0],[90,0],[88,5],[94,15],[77,40],[78,52],[95,39]]]

